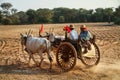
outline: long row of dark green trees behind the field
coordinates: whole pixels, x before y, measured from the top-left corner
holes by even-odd
[[[0,4],[0,24],[39,24],[39,23],[80,23],[80,22],[114,22],[120,24],[120,6],[113,8],[97,8],[95,10],[69,8],[39,8],[26,12],[13,8],[11,3]]]

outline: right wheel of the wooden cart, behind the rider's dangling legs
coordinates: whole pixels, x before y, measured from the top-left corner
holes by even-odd
[[[89,67],[97,65],[100,61],[100,51],[98,46],[95,43],[91,44],[91,46],[91,51],[88,51],[88,53],[81,53],[80,55],[82,63]]]

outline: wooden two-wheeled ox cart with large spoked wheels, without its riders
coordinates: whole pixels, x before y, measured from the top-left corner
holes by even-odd
[[[63,71],[70,71],[76,65],[77,58],[86,66],[97,65],[100,61],[100,50],[95,42],[92,42],[91,45],[94,47],[94,55],[87,56],[87,53],[83,53],[81,44],[65,39],[60,43],[56,52],[58,66]]]

